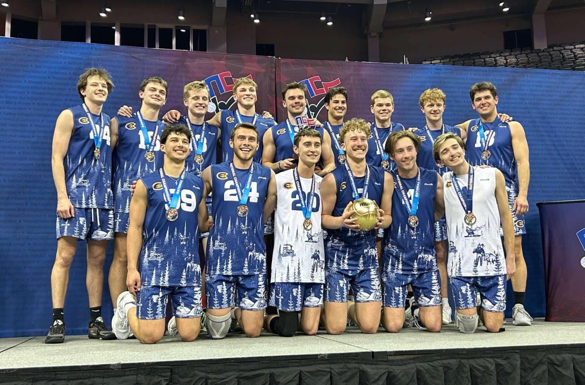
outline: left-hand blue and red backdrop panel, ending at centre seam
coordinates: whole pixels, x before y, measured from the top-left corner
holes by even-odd
[[[183,105],[183,86],[205,80],[217,109],[234,104],[233,81],[251,76],[259,84],[257,108],[274,111],[274,58],[101,44],[0,38],[0,264],[4,309],[0,337],[43,335],[51,324],[50,273],[56,251],[56,193],[51,174],[51,141],[60,112],[81,104],[76,84],[87,67],[106,68],[115,88],[104,107],[115,116],[122,105],[140,108],[140,82],[160,76],[168,82],[162,111]],[[208,114],[209,118],[213,116]],[[105,263],[104,319],[112,305]],[[87,333],[85,246],[71,266],[65,303],[67,334]],[[109,319],[108,319],[109,318]]]

